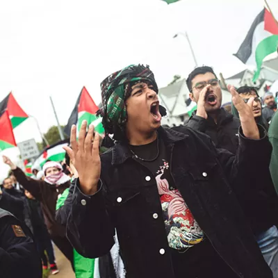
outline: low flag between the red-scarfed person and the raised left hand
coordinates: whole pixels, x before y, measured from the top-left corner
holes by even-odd
[[[70,139],[65,139],[63,141],[57,142],[54,145],[51,145],[45,148],[38,156],[33,165],[42,167],[46,161],[63,161],[65,158],[65,150],[63,147],[70,145]]]

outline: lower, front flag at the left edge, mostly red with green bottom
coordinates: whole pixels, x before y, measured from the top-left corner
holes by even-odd
[[[3,149],[16,147],[15,136],[13,135],[13,126],[10,123],[8,111],[0,116],[0,152]]]

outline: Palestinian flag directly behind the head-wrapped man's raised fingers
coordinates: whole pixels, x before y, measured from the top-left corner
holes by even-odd
[[[77,131],[80,130],[81,123],[83,120],[86,120],[89,124],[94,124],[95,131],[101,134],[104,133],[104,127],[101,124],[101,117],[97,117],[95,113],[99,110],[99,107],[95,104],[95,101],[92,100],[92,97],[89,95],[88,90],[85,87],[82,88],[79,98],[76,101],[74,110],[70,115],[70,119],[65,126],[64,132],[67,136],[70,136],[70,129],[72,124],[77,125]]]

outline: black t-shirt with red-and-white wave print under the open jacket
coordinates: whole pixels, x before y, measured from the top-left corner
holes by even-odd
[[[170,171],[170,154],[160,138],[147,145],[129,146],[136,160],[145,165],[156,178],[169,246],[186,250],[200,243],[204,233],[193,218]]]

